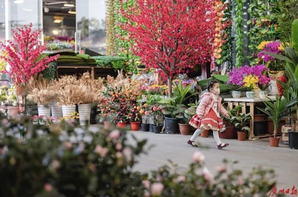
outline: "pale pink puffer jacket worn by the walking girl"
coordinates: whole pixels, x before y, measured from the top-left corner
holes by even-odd
[[[204,119],[211,107],[213,106],[213,97],[211,93],[204,93],[201,97],[201,101],[199,106],[197,107],[197,114],[200,119]],[[222,105],[222,98],[220,97],[218,100],[218,109],[221,114],[226,115],[227,111],[225,110],[224,106]]]

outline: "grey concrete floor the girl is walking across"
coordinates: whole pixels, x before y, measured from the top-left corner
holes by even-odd
[[[205,164],[211,173],[222,164],[223,159],[238,161],[235,169],[241,169],[244,175],[251,172],[253,167],[262,166],[265,169],[274,169],[277,175],[277,189],[298,188],[298,150],[289,149],[288,144],[280,141],[279,147],[270,147],[269,138],[258,140],[238,141],[236,139],[221,139],[229,143],[225,149],[218,150],[213,136],[196,139],[197,143],[209,148],[194,148],[186,142],[190,135],[154,134],[151,132],[132,131],[138,139],[147,139],[146,147],[153,145],[147,155],[138,159],[134,170],[149,172],[157,170],[163,164],[169,164],[167,159],[178,164],[181,170],[188,168],[195,151],[205,155]],[[170,164],[169,164],[170,166]]]

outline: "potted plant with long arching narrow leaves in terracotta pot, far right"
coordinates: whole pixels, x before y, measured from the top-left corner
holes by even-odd
[[[273,137],[270,137],[270,146],[277,147],[279,144],[279,137],[276,136],[277,129],[280,121],[292,113],[292,106],[297,103],[296,100],[282,99],[280,96],[276,95],[276,100],[273,101],[271,98],[269,100],[263,100],[266,105],[265,109],[257,107],[259,110],[268,115],[273,121],[274,131]]]

